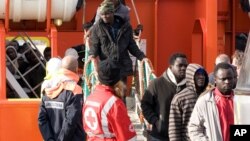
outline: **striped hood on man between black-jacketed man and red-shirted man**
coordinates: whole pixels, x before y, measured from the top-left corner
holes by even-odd
[[[204,87],[205,89],[208,85],[208,74],[206,70],[199,64],[189,64],[186,69],[186,85],[187,87],[190,87],[195,91],[196,91],[196,87],[194,83],[194,75],[196,71],[198,71],[199,69],[202,69],[205,72],[205,87]]]

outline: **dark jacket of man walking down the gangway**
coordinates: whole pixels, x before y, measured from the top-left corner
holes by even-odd
[[[111,58],[118,61],[121,68],[121,77],[125,77],[133,74],[129,53],[139,60],[142,60],[145,55],[133,39],[133,30],[129,22],[123,21],[119,16],[114,16],[114,20],[120,26],[115,39],[109,32],[110,27],[102,19],[93,25],[90,34],[89,55],[99,56],[100,60]]]

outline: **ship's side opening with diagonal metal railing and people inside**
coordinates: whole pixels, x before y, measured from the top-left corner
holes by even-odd
[[[49,46],[45,37],[19,34],[6,42],[7,98],[40,98],[45,76],[46,59],[43,52]]]

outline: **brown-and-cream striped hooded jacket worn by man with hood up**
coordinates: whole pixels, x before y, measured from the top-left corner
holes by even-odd
[[[171,102],[169,114],[169,140],[189,141],[188,122],[192,114],[194,105],[198,98],[195,86],[195,73],[202,69],[205,74],[205,84],[203,91],[208,85],[208,74],[205,69],[198,64],[189,64],[186,69],[186,85],[180,93],[176,94]]]

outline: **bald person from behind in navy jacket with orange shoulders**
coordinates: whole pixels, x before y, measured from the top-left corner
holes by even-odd
[[[83,93],[77,85],[77,67],[75,57],[64,57],[58,74],[42,89],[38,123],[45,141],[85,140],[81,112]]]

